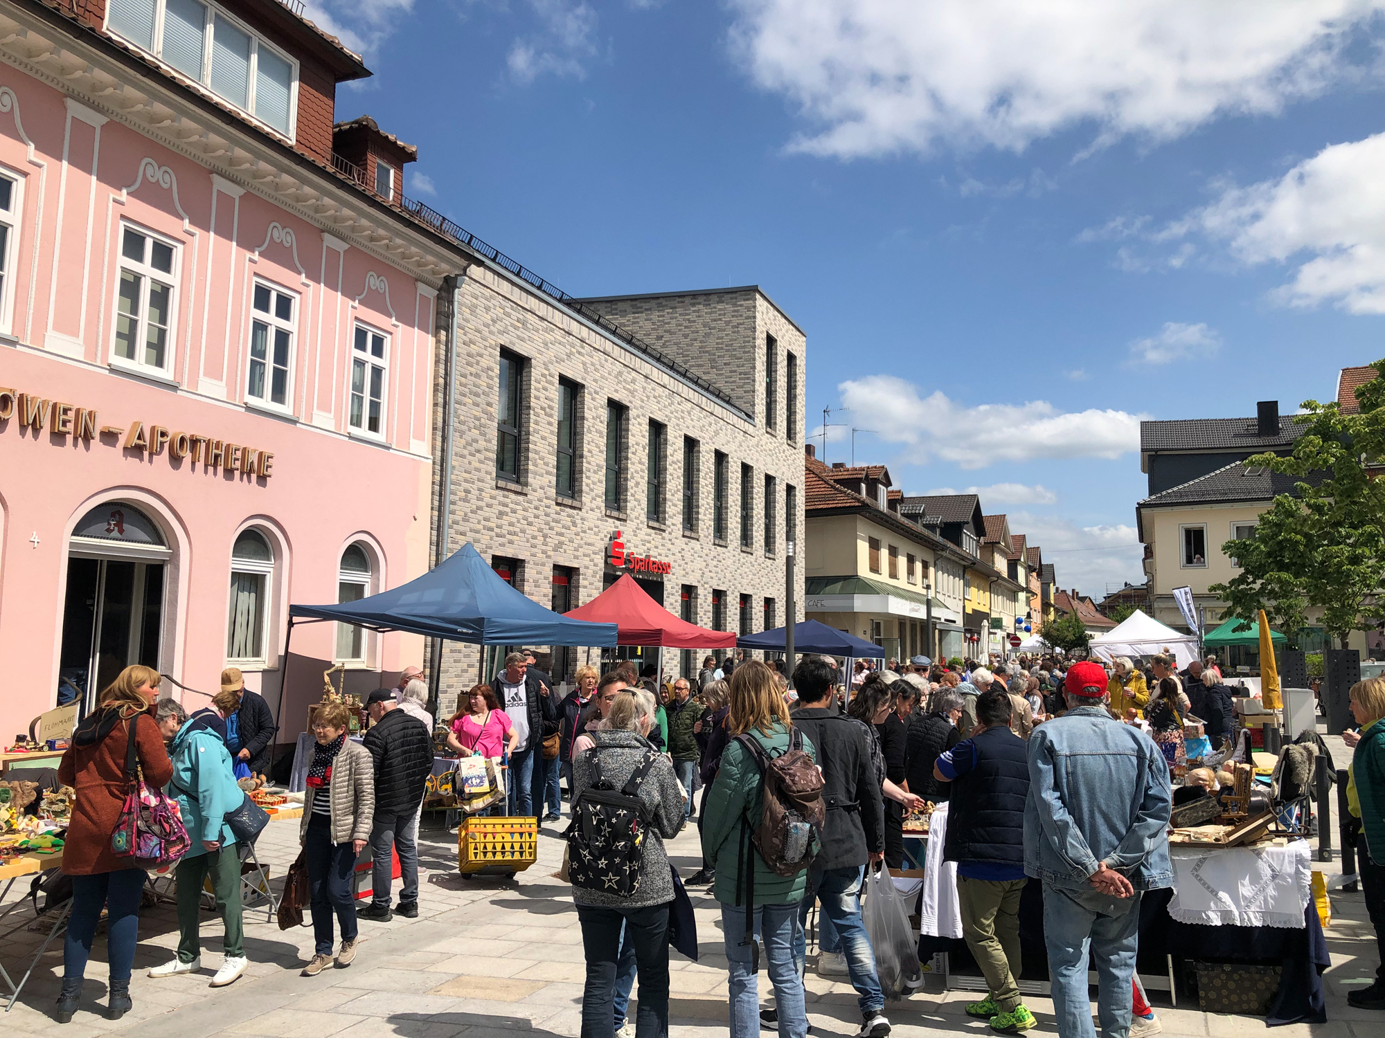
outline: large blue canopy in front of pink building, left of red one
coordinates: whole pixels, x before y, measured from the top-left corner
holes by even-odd
[[[512,588],[471,544],[391,591],[339,605],[291,605],[288,614],[472,645],[616,644],[614,623],[587,623],[544,609]]]

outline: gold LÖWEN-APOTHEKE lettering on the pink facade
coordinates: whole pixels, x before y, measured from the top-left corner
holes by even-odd
[[[0,386],[0,424],[33,429],[36,435],[47,429],[53,436],[120,441],[125,450],[148,454],[162,454],[166,450],[169,458],[191,458],[193,464],[241,472],[247,476],[269,479],[274,475],[274,454],[270,451],[201,433],[172,430],[163,425],[145,426],[144,422],[130,422],[129,426],[100,425],[94,408],[61,400],[44,400],[7,386]]]

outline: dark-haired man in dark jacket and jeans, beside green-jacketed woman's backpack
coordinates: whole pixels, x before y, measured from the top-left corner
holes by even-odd
[[[831,919],[841,938],[846,970],[859,994],[861,1027],[857,1035],[881,1038],[889,1034],[889,1020],[881,1012],[885,996],[861,922],[860,893],[863,866],[885,857],[884,775],[877,775],[871,764],[866,742],[874,738],[870,729],[855,718],[842,717],[832,707],[835,681],[835,668],[820,656],[805,656],[794,668],[794,688],[798,689],[794,725],[802,729],[817,752],[817,764],[823,771],[823,803],[827,805],[823,850],[807,871],[799,919],[806,922],[813,902],[823,902],[823,913]],[[795,937],[795,955],[802,970],[806,958],[802,926]]]

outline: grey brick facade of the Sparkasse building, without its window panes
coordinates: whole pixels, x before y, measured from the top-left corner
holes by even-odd
[[[713,626],[713,594],[722,592],[724,627],[738,630],[741,595],[751,597],[751,631],[784,614],[784,544],[789,529],[803,531],[803,378],[806,339],[758,288],[607,299],[593,303],[604,316],[726,390],[735,407],[658,365],[647,356],[598,331],[548,296],[493,268],[475,266],[457,293],[456,415],[450,490],[449,551],[471,541],[482,558],[514,559],[515,587],[544,606],[553,605],[554,567],[569,567],[572,606],[598,595],[615,570],[607,555],[622,531],[626,549],[672,563],[663,576],[663,605],[681,614],[690,588],[692,620]],[[519,393],[519,480],[497,477],[496,421],[500,353],[524,361]],[[774,428],[765,428],[767,352],[774,354]],[[796,385],[785,385],[795,357]],[[438,357],[439,372],[446,358]],[[576,487],[557,493],[558,379],[578,383]],[[435,429],[442,435],[446,379],[438,379]],[[620,505],[608,508],[608,401],[626,408],[619,443]],[[787,414],[792,403],[795,414]],[[648,444],[651,421],[666,429],[658,516],[648,515]],[[692,530],[684,530],[684,439],[697,441]],[[713,538],[713,458],[727,455],[726,541]],[[435,491],[442,450],[435,455]],[[751,547],[741,543],[741,466],[753,469]],[[773,540],[766,543],[766,476],[773,477]],[[785,487],[795,489],[792,518]],[[440,494],[435,493],[436,501]],[[436,530],[438,516],[434,516]],[[643,576],[643,574],[640,574]],[[802,570],[796,580],[798,617],[803,617]],[[658,599],[658,595],[655,594]],[[697,652],[701,659],[704,653]],[[571,666],[587,660],[571,653]],[[598,660],[598,650],[591,650]],[[569,666],[569,670],[571,670]],[[665,673],[680,666],[679,653],[663,653]],[[475,646],[449,644],[442,656],[443,709],[478,680]],[[489,678],[490,675],[485,675]],[[554,674],[555,680],[564,680]]]

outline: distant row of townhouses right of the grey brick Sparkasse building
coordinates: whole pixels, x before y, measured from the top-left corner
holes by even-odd
[[[806,609],[885,657],[1007,655],[1053,617],[1054,572],[976,494],[906,497],[884,465],[806,447]]]

